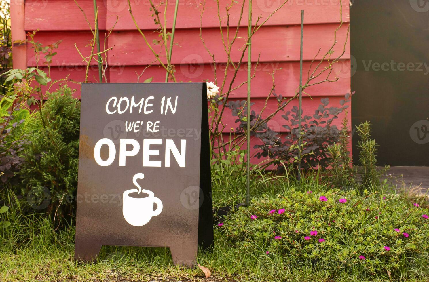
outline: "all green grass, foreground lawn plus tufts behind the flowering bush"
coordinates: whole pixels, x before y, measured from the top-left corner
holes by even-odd
[[[213,182],[215,208],[245,199],[245,179],[231,171],[214,171],[217,175]],[[260,174],[252,179],[254,197],[277,197],[291,188],[321,191],[329,186],[320,183],[317,177],[305,177],[297,182],[291,177]],[[13,198],[8,201],[16,202]],[[12,226],[3,230],[0,281],[207,281],[199,268],[174,266],[169,249],[165,248],[103,246],[96,262],[77,263],[73,260],[73,224],[64,231],[54,231],[49,219],[40,215],[23,216],[22,209],[24,207],[15,205],[7,215]],[[262,251],[260,254],[242,252],[225,238],[220,228],[215,228],[213,248],[200,251],[197,261],[211,270],[209,281],[390,281],[387,273],[365,276],[356,268],[349,273],[335,274],[274,252],[269,256]],[[428,273],[428,266],[420,265],[400,280],[429,281]]]

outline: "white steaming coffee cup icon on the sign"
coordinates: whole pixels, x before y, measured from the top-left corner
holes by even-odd
[[[162,202],[154,196],[154,192],[141,189],[137,183],[137,179],[143,177],[145,176],[142,173],[134,175],[133,183],[138,189],[130,189],[123,194],[122,214],[124,219],[133,226],[145,225],[152,216],[157,216],[162,211]],[[154,204],[157,204],[156,210],[154,210]]]

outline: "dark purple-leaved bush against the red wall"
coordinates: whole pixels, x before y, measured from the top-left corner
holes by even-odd
[[[275,95],[276,96],[276,95]],[[276,96],[278,101],[283,97]],[[255,145],[255,149],[260,149],[256,154],[261,157],[276,159],[275,165],[281,170],[284,164],[296,166],[301,162],[301,168],[328,168],[330,165],[329,152],[327,148],[338,141],[339,130],[332,122],[338,118],[344,110],[348,108],[350,93],[340,101],[340,107],[329,107],[329,98],[320,100],[321,104],[314,111],[313,115],[302,116],[302,147],[297,146],[299,140],[299,108],[293,106],[290,111],[284,111],[281,117],[286,124],[283,127],[290,132],[282,141],[280,136],[270,129],[266,124],[257,129],[255,135],[261,139],[262,145]],[[237,110],[236,110],[237,111]],[[240,108],[238,108],[240,111]],[[236,114],[233,110],[233,114]],[[257,117],[256,117],[257,118]],[[242,126],[240,125],[240,128]],[[298,160],[301,154],[301,159]],[[297,160],[297,161],[296,161]]]

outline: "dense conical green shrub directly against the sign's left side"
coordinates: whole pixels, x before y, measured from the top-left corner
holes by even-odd
[[[48,96],[27,135],[20,175],[31,207],[54,214],[60,222],[73,215],[79,157],[80,102],[63,87]]]

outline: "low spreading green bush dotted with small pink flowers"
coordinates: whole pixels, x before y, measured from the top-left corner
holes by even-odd
[[[258,198],[218,228],[241,255],[278,256],[330,273],[401,275],[429,259],[429,210],[398,196],[329,190]]]

